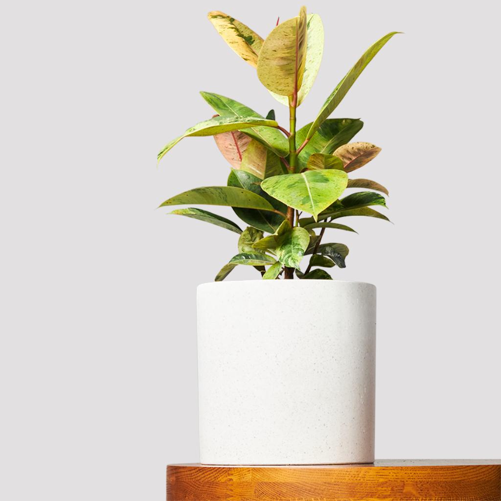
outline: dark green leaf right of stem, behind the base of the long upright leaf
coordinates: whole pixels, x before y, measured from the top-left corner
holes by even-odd
[[[296,144],[301,146],[306,139],[311,123],[301,127],[296,133]],[[356,118],[329,118],[310,139],[298,155],[301,169],[306,168],[310,155],[314,153],[331,154],[342,144],[351,141],[364,123]],[[275,131],[274,129],[269,129]],[[275,131],[276,132],[276,131]]]

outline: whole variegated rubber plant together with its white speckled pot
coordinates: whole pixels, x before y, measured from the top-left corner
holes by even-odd
[[[329,117],[396,32],[372,45],[317,117],[297,128],[297,108],[322,58],[320,17],[303,7],[266,40],[222,12],[208,19],[289,108],[290,125],[281,126],[273,110],[263,116],[202,92],[215,116],[158,154],[160,161],[185,137],[213,136],[230,165],[226,184],[191,189],[161,207],[226,205],[245,225],[200,208],[170,212],[238,234],[237,252],[215,282],[198,287],[201,461],[372,462],[376,291],[332,280],[326,269],[344,268],[348,247],[324,237],[354,231],[339,222],[343,217],[387,220],[373,206],[385,207],[388,191],[352,177],[380,151],[351,142],[362,121]],[[254,267],[263,280],[222,282],[239,265]]]

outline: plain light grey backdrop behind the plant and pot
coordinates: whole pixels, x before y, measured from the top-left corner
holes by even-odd
[[[199,90],[286,123],[205,15],[265,36],[300,5],[4,6],[6,499],[162,499],[165,464],[197,461],[195,287],[236,235],[155,207],[223,184],[228,166],[212,138],[183,140],[158,170],[155,155],[211,115]],[[335,113],[361,117],[357,139],[383,148],[363,176],[389,188],[394,222],[350,221],[360,234],[342,235],[351,252],[335,272],[378,287],[376,455],[499,457],[499,4],[308,8],[326,48],[300,124],[370,44],[405,32]]]

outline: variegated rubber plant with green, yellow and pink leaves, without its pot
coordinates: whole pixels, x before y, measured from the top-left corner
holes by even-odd
[[[208,19],[228,46],[257,69],[272,96],[289,108],[289,129],[279,125],[274,110],[265,117],[228,97],[201,92],[215,115],[166,144],[158,161],[181,139],[213,136],[231,170],[225,186],[194,188],[160,206],[226,205],[246,225],[200,208],[175,209],[170,214],[209,222],[237,233],[238,253],[215,277],[224,278],[238,265],[252,266],[265,280],[294,278],[330,280],[325,268],[344,268],[348,247],[322,242],[327,229],[355,231],[338,219],[368,216],[388,220],[374,206],[386,207],[388,190],[351,173],[371,161],[380,148],[350,142],[363,126],[354,118],[329,118],[364,68],[398,32],[378,40],[362,55],[327,98],[317,117],[296,127],[296,110],[313,86],[324,47],[324,29],[317,14],[299,15],[277,27],[263,40],[257,33],[222,12]],[[360,188],[345,195],[347,189]],[[308,265],[301,271],[303,258]],[[295,272],[295,273],[294,273]]]

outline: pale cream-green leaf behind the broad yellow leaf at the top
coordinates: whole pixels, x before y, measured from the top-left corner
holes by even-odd
[[[306,19],[306,64],[303,74],[303,84],[298,92],[298,106],[304,101],[313,87],[324,51],[324,27],[320,16],[318,14],[308,14]],[[289,106],[287,96],[281,96],[275,92],[270,93],[279,103]]]

